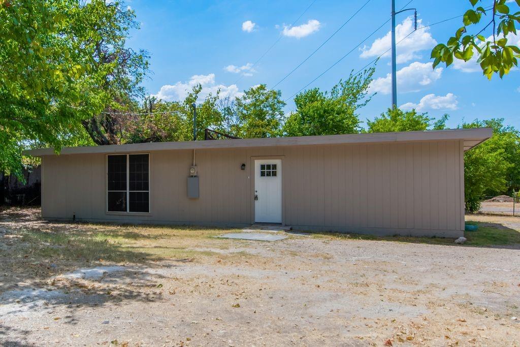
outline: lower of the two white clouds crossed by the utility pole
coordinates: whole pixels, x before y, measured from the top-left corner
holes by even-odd
[[[440,79],[443,68],[432,68],[431,62],[412,62],[409,66],[397,71],[397,89],[399,93],[419,92],[424,86]],[[370,83],[370,93],[390,94],[392,92],[392,75],[380,77]]]

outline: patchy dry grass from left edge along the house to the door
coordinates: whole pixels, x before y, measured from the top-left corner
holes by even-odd
[[[0,292],[22,278],[45,279],[98,264],[234,262],[253,256],[211,251],[233,244],[233,240],[214,238],[226,229],[46,222],[38,213],[9,209],[0,216]]]

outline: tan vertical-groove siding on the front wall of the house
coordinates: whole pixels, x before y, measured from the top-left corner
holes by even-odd
[[[192,150],[150,151],[150,213],[106,212],[106,155],[42,158],[42,215],[129,223],[254,222],[255,158],[282,159],[282,219],[296,229],[461,236],[463,142],[199,149],[200,198],[187,197]],[[246,170],[240,165],[246,164]]]

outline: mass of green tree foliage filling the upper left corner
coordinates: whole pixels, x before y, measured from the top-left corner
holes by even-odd
[[[0,2],[0,170],[33,145],[118,143],[103,111],[137,107],[148,62],[125,46],[132,10],[103,0]]]

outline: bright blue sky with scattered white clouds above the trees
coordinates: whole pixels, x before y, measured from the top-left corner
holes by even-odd
[[[397,0],[396,7],[408,1]],[[132,31],[128,44],[151,54],[152,74],[144,83],[149,94],[175,100],[185,95],[186,88],[200,82],[206,93],[220,88],[223,94],[237,95],[261,83],[273,87],[366,2],[127,0],[141,22],[140,30]],[[422,27],[462,15],[468,6],[468,1],[412,0],[407,7],[417,8]],[[370,0],[314,56],[276,86],[282,98],[291,97],[314,80],[380,27],[389,14],[390,0]],[[413,12],[398,15],[398,41],[412,30],[412,21],[407,17],[411,15]],[[491,117],[505,118],[506,124],[520,127],[520,71],[512,71],[503,80],[495,76],[488,81],[472,61],[431,68],[431,48],[446,42],[461,20],[418,30],[397,46],[398,105],[418,108],[436,118],[449,113],[449,127],[463,120]],[[308,88],[330,89],[351,70],[367,65],[389,47],[389,30],[387,23]],[[520,44],[520,37],[511,40]],[[373,119],[390,106],[389,72],[389,58],[383,56],[370,89],[377,94],[359,110],[361,120]],[[294,109],[292,98],[287,104],[287,112]]]

